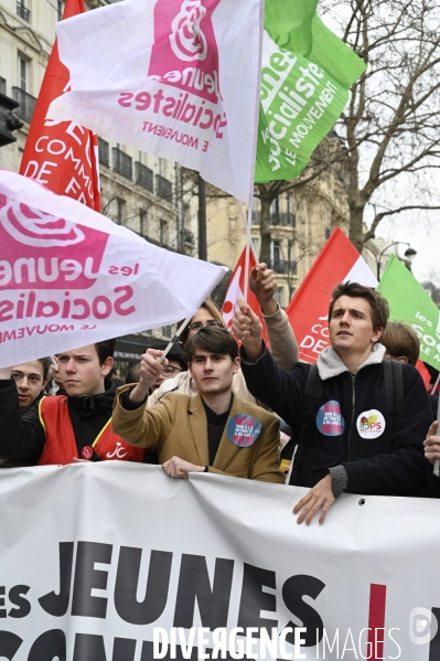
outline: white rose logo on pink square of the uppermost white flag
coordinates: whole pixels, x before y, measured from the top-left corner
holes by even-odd
[[[180,13],[171,24],[171,47],[180,60],[191,62],[205,60],[207,54],[206,36],[201,30],[201,21],[206,9],[201,0],[183,0]]]

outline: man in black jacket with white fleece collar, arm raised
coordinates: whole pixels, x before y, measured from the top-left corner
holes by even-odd
[[[404,406],[388,413],[378,340],[388,319],[388,303],[356,282],[340,284],[329,308],[331,347],[318,359],[322,394],[303,436],[298,479],[311,487],[293,513],[320,523],[342,491],[375,495],[419,495],[426,480],[422,440],[430,405],[417,370],[403,365]],[[242,339],[242,369],[247,386],[286,420],[298,440],[304,388],[311,365],[280,370],[261,341],[258,319],[242,301],[234,332]]]

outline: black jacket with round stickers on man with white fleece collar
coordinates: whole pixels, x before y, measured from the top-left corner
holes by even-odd
[[[243,354],[243,350],[242,350]],[[310,365],[298,363],[285,372],[270,352],[257,363],[242,360],[242,370],[251,394],[270,406],[299,438],[303,392]],[[420,495],[427,482],[428,462],[423,439],[431,423],[431,407],[419,373],[404,367],[404,409],[397,417],[388,414],[383,364],[371,364],[355,376],[343,372],[324,381],[322,397],[312,411],[304,435],[304,447],[297,483],[314,487],[333,466],[343,466],[348,476],[346,491],[375,495]],[[341,429],[322,431],[326,408],[340,411]],[[361,418],[372,412],[384,417],[385,428],[365,438]]]

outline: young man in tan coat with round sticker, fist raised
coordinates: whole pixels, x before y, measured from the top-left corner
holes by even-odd
[[[129,444],[155,449],[163,470],[186,479],[190,472],[215,472],[282,484],[279,420],[233,394],[239,369],[238,347],[223,328],[202,328],[185,345],[198,393],[169,393],[146,408],[151,379],[167,364],[146,353],[140,382],[119,388],[112,428]]]

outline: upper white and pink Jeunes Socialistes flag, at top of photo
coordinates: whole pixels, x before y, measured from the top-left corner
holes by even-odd
[[[262,0],[126,0],[57,24],[71,92],[47,116],[197,170],[249,202]]]

